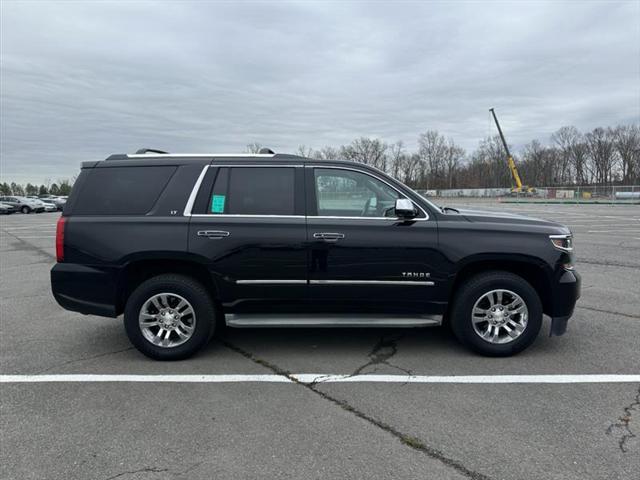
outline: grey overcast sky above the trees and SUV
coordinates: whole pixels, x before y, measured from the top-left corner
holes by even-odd
[[[1,2],[3,181],[155,147],[640,122],[640,1]]]

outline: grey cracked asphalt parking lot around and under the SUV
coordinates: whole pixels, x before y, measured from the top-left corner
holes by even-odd
[[[640,206],[448,204],[571,227],[583,290],[566,335],[549,338],[547,319],[527,351],[489,359],[445,328],[228,330],[191,360],[154,362],[121,319],[55,303],[57,214],[1,217],[0,477],[638,478],[640,382],[608,378],[640,373]],[[47,374],[83,380],[7,377]],[[154,377],[91,380],[103,374]],[[247,377],[162,380],[178,374]],[[407,381],[360,381],[371,374]]]

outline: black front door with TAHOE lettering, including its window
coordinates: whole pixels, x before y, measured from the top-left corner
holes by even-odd
[[[395,217],[406,196],[356,167],[308,166],[309,296],[335,313],[441,313],[433,304],[437,224],[418,208]]]

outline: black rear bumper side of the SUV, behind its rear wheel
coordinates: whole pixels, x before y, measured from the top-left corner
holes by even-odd
[[[51,291],[62,308],[85,315],[116,317],[115,275],[73,263],[51,269]]]

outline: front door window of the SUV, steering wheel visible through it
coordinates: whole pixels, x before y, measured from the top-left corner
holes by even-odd
[[[352,170],[314,169],[318,215],[393,217],[398,192],[386,183]]]

